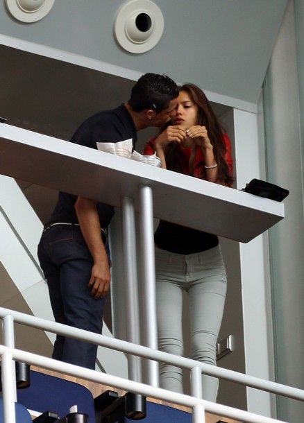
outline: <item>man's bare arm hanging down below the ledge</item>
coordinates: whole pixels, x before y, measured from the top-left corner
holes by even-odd
[[[89,287],[94,298],[100,298],[108,293],[110,288],[110,266],[108,254],[101,238],[99,215],[96,201],[78,197],[75,203],[78,222],[81,232],[93,257],[92,275]]]

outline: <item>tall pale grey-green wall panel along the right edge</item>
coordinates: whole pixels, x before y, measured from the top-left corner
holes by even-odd
[[[298,19],[303,25],[304,3],[296,3],[301,6]],[[294,17],[294,2],[290,1],[264,83],[264,108],[268,180],[290,191],[284,201],[286,217],[270,231],[276,380],[303,389],[303,110],[299,103]],[[303,41],[298,53],[303,53]],[[303,54],[299,55],[303,64]],[[303,93],[303,83],[300,86]],[[303,403],[278,399],[282,420],[301,423],[303,415]]]

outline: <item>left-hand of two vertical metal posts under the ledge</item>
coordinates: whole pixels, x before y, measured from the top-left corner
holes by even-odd
[[[127,340],[140,344],[140,311],[137,283],[136,236],[134,202],[130,197],[121,200],[122,232],[124,245],[124,275],[126,284]],[[128,374],[133,381],[142,381],[140,357],[128,355]]]

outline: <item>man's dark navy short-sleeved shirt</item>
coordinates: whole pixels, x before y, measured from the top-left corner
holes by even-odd
[[[114,110],[106,110],[89,117],[76,130],[71,142],[97,149],[96,142],[118,142],[130,138],[133,139],[133,146],[135,146],[137,132],[133,119],[126,107],[121,105]],[[77,196],[60,192],[56,207],[46,225],[57,222],[78,223],[75,211],[76,200]],[[101,227],[107,227],[114,214],[113,207],[101,202],[96,207]]]

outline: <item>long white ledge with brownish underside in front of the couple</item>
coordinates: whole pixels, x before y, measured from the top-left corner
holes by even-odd
[[[282,202],[6,124],[0,173],[116,207],[130,196],[136,210],[138,188],[149,185],[155,217],[244,243],[284,218]]]

